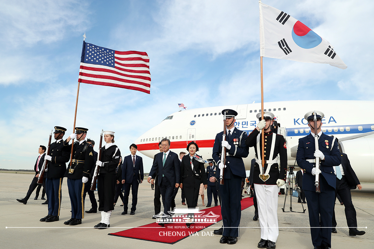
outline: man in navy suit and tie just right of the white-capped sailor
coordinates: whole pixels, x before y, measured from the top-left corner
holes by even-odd
[[[122,164],[122,183],[125,189],[123,192],[123,212],[122,214],[127,214],[129,194],[131,188],[132,194],[132,206],[131,215],[135,214],[138,203],[138,188],[139,184],[143,182],[144,171],[143,171],[143,159],[137,156],[138,146],[136,144],[130,145],[131,155],[125,156],[123,158]]]

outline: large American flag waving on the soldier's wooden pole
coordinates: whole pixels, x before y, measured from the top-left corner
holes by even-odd
[[[78,81],[150,93],[149,57],[145,52],[120,52],[83,41]]]

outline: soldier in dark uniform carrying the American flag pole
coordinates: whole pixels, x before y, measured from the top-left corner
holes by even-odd
[[[87,143],[85,138],[88,129],[76,127],[64,144],[68,144],[71,139],[77,138],[73,146],[72,164],[68,166],[64,177],[67,177],[67,184],[71,202],[71,219],[65,221],[65,225],[82,224],[84,218],[83,190],[90,177],[93,165],[93,148]],[[113,202],[113,200],[112,200]]]

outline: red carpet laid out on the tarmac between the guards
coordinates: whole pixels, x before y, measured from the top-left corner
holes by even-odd
[[[249,208],[253,205],[253,198],[243,198],[241,201],[242,210]],[[220,217],[217,218],[217,222],[222,220],[221,206],[215,206],[211,208],[205,208],[201,211],[205,211],[203,215],[213,212]],[[191,234],[197,233],[206,227],[209,227],[215,223],[195,223],[187,228],[186,223],[172,223],[165,224],[165,227],[159,226],[156,222],[141,227],[135,227],[128,230],[120,231],[117,233],[110,233],[108,235],[120,236],[132,239],[148,240],[154,242],[174,244]],[[156,228],[154,228],[156,227]],[[206,233],[213,234],[212,231],[206,231]],[[208,234],[199,234],[200,236],[208,236]]]

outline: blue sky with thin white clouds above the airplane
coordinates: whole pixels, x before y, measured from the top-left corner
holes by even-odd
[[[374,100],[374,1],[263,3],[324,37],[348,66],[264,58],[265,102]],[[115,131],[122,155],[177,103],[260,102],[258,12],[257,0],[0,1],[0,168],[32,169],[55,125],[65,138],[73,130],[85,32],[88,43],[150,57],[151,94],[80,85],[76,126],[96,141]]]

